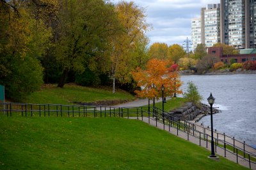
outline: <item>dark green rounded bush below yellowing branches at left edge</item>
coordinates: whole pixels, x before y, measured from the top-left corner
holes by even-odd
[[[43,68],[40,62],[28,56],[15,58],[4,56],[11,63],[6,77],[0,81],[5,86],[6,97],[19,102],[43,84]]]

